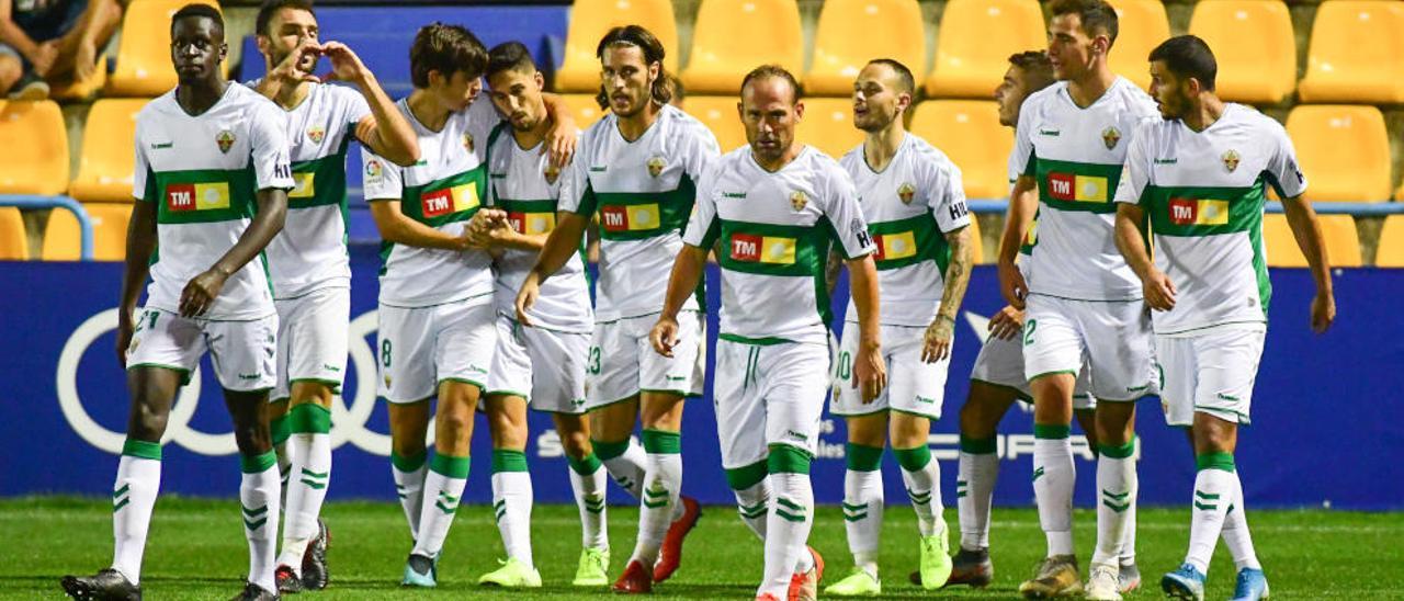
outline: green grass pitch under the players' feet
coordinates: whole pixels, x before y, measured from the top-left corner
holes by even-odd
[[[546,586],[535,591],[477,587],[477,576],[497,566],[501,543],[486,506],[463,506],[445,545],[439,588],[400,590],[410,539],[399,506],[330,503],[331,588],[305,600],[427,598],[609,598],[605,590],[569,586],[580,553],[576,508],[536,506],[532,524],[536,566]],[[810,543],[828,563],[823,584],[842,577],[851,557],[837,507],[816,511]],[[618,576],[633,545],[637,510],[611,507],[611,576]],[[1189,511],[1141,508],[1139,564],[1146,579],[1127,598],[1160,598],[1160,574],[1184,557]],[[1404,598],[1404,514],[1344,511],[1255,511],[1248,514],[1258,555],[1275,600]],[[955,508],[946,522],[956,531]],[[60,598],[59,577],[87,574],[111,560],[111,508],[102,500],[37,497],[0,501],[0,598]],[[1077,548],[1084,562],[1092,549],[1095,514],[1077,513]],[[952,545],[955,545],[952,535]],[[1038,515],[1031,508],[995,508],[991,531],[995,583],[983,591],[956,588],[925,593],[907,584],[917,563],[915,524],[910,507],[893,503],[883,527],[883,598],[1018,598],[1016,587],[1043,552]],[[227,598],[241,586],[247,550],[236,500],[163,498],[146,549],[143,593],[147,600]],[[684,563],[673,580],[654,588],[657,598],[750,598],[761,577],[761,543],[736,517],[734,507],[706,507],[688,539]],[[1227,598],[1233,563],[1219,545],[1210,567],[1207,598]],[[823,588],[821,588],[823,591]],[[823,595],[821,595],[823,597]]]

